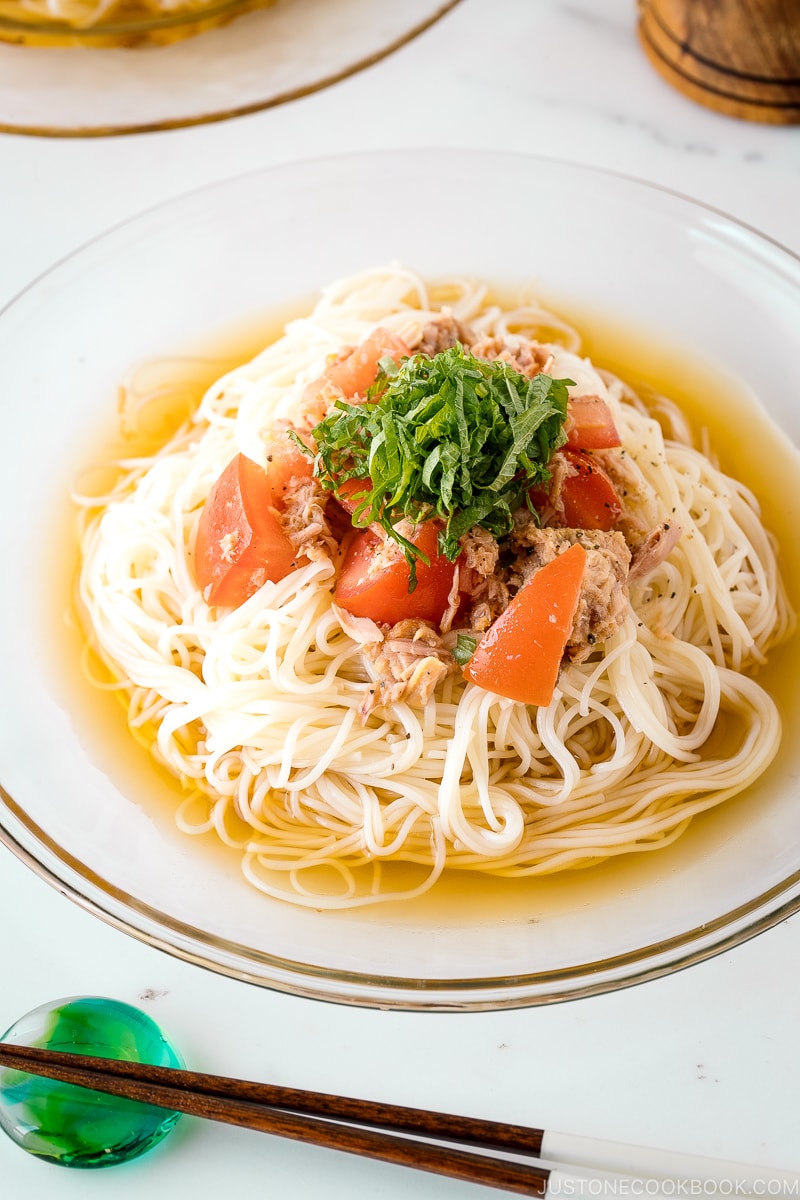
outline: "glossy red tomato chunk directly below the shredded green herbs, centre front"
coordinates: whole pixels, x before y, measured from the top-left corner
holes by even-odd
[[[410,568],[397,542],[359,529],[345,552],[333,599],[354,617],[369,617],[379,624],[395,625],[414,617],[438,624],[447,608],[456,564],[437,550],[438,526],[425,521],[409,541],[429,562],[417,562],[416,587],[409,592]]]

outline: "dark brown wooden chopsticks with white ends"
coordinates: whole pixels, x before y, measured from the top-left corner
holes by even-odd
[[[528,1196],[800,1194],[800,1175],[173,1067],[0,1043],[0,1067]],[[534,1162],[531,1162],[531,1159]],[[548,1162],[551,1165],[543,1165]],[[616,1181],[616,1182],[614,1182]],[[676,1190],[691,1181],[694,1190]],[[661,1189],[661,1190],[660,1190]]]

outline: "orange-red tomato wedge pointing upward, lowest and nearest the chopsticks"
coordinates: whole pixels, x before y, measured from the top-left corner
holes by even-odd
[[[523,704],[553,698],[581,599],[587,552],[578,542],[540,568],[477,643],[465,679]]]

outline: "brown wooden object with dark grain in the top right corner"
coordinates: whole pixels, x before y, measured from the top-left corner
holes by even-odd
[[[800,0],[638,0],[639,40],[685,96],[729,116],[800,124]]]

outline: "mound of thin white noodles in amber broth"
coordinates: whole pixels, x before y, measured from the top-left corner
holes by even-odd
[[[618,632],[563,668],[547,708],[451,676],[425,708],[398,703],[363,722],[371,678],[331,605],[333,565],[309,563],[213,610],[192,574],[194,530],[222,468],[236,451],[263,461],[264,428],[331,353],[377,324],[410,337],[443,305],[485,335],[549,338],[552,373],[612,407],[627,503],[645,527],[676,522],[682,535],[632,586]],[[692,445],[668,400],[648,408],[578,348],[535,302],[504,310],[470,280],[365,271],[223,376],[110,492],[79,498],[91,642],[128,696],[132,728],[187,787],[179,827],[216,830],[257,888],[344,907],[419,895],[445,866],[543,875],[657,850],[775,755],[775,704],[746,672],[793,614],[758,505]],[[710,738],[721,721],[722,750]],[[389,859],[419,877],[398,889]]]

